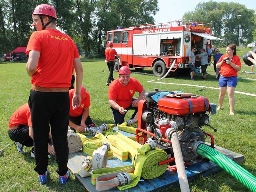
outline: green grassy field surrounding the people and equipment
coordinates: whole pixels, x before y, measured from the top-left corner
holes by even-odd
[[[223,52],[223,51],[222,51]],[[224,53],[224,52],[223,52]],[[108,77],[108,68],[104,60],[82,62],[84,67],[83,85],[91,95],[90,116],[96,124],[112,123],[113,118],[108,105],[108,87],[105,86]],[[0,189],[1,191],[85,191],[85,188],[79,181],[75,180],[71,174],[71,179],[65,186],[60,186],[58,175],[56,173],[57,163],[54,158],[49,161],[48,168],[50,176],[45,185],[40,185],[36,172],[34,171],[35,162],[30,157],[31,148],[25,147],[25,155],[20,155],[13,142],[9,139],[7,126],[12,113],[22,104],[28,101],[30,92],[30,77],[25,70],[26,63],[0,62],[0,149],[6,144],[11,143],[11,147],[4,150],[3,156],[0,156]],[[102,70],[106,72],[102,72]],[[241,71],[250,71],[251,68],[243,64]],[[132,70],[133,71],[133,70]],[[152,70],[145,70],[145,73],[153,74]],[[208,67],[207,72],[214,74],[213,67]],[[114,73],[114,78],[118,76]],[[206,96],[210,102],[218,104],[219,90],[204,88],[204,91],[196,92],[202,88],[183,85],[156,84],[148,83],[148,80],[157,79],[155,76],[132,74],[144,86],[146,91],[159,90],[195,93]],[[176,84],[194,84],[218,88],[218,81],[215,76],[207,75],[207,80],[201,79],[201,74],[196,75],[196,81],[191,81],[189,76],[168,77],[162,80],[166,83]],[[238,77],[254,78],[256,75],[239,72]],[[239,79],[236,91],[256,94],[256,81]],[[136,94],[138,95],[138,94]],[[228,96],[226,95],[223,109],[213,115],[210,124],[218,131],[213,132],[209,127],[204,127],[206,132],[212,133],[215,138],[215,144],[243,154],[245,161],[240,164],[246,170],[256,175],[256,136],[255,136],[255,97],[235,94],[235,116],[229,116]],[[131,114],[131,113],[130,113]],[[128,114],[128,115],[130,115]],[[248,191],[239,181],[222,171],[215,175],[198,178],[189,183],[191,191],[201,192],[234,192]],[[169,188],[164,191],[180,191],[179,187]]]

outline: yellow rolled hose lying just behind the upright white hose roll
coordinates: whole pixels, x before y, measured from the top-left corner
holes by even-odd
[[[103,144],[103,141],[98,138],[88,138],[84,141],[83,152],[88,155],[92,155],[93,151],[100,148],[102,144]],[[112,158],[113,158],[112,151],[108,151],[108,159],[112,159]]]

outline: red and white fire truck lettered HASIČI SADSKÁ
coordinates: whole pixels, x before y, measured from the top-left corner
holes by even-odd
[[[121,66],[135,68],[136,71],[153,68],[155,76],[162,77],[177,60],[171,72],[188,72],[188,53],[192,46],[197,52],[204,48],[209,52],[211,40],[222,40],[211,35],[211,24],[202,22],[170,21],[168,23],[140,25],[130,28],[117,27],[107,33],[107,43],[112,41],[113,48],[123,60],[116,57],[115,71]],[[196,58],[196,64],[200,60]],[[210,61],[209,61],[210,62]]]

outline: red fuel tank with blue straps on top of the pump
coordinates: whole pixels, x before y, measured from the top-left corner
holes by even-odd
[[[192,110],[190,106],[192,106]],[[207,97],[201,96],[188,98],[164,97],[158,100],[158,108],[172,115],[188,115],[206,111],[209,108],[209,100]]]

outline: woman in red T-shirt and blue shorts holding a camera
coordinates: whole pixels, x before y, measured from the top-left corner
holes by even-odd
[[[240,58],[236,55],[236,45],[230,44],[227,46],[226,54],[220,57],[220,60],[216,64],[216,68],[220,68],[220,95],[219,95],[219,107],[220,110],[224,101],[225,94],[228,89],[228,100],[230,106],[229,115],[234,115],[235,106],[235,89],[237,85],[237,71],[241,70]]]

